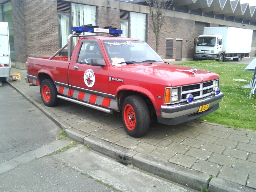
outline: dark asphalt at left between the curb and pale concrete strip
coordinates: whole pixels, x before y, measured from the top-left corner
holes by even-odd
[[[0,163],[56,140],[60,128],[8,84],[0,87]]]

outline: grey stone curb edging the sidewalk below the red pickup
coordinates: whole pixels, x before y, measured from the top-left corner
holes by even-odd
[[[38,109],[40,109],[56,125],[58,125],[61,129],[65,130],[67,136],[72,140],[84,144],[85,146],[88,145],[89,148],[91,148],[92,150],[95,150],[103,155],[114,158],[121,163],[132,164],[133,166],[141,170],[151,172],[157,176],[160,176],[167,180],[174,181],[176,183],[179,183],[181,185],[187,186],[195,190],[200,190],[200,186],[207,188],[207,186],[209,185],[209,174],[191,170],[189,168],[182,167],[177,164],[173,164],[167,161],[163,161],[151,156],[138,153],[131,149],[118,146],[114,143],[110,143],[106,140],[96,138],[92,135],[89,135],[80,130],[70,127],[58,116],[53,114],[49,109],[44,107],[44,105],[38,104],[38,101],[31,98],[30,95],[28,95],[27,93],[23,93],[19,88],[15,87],[10,82],[7,83],[11,85],[21,95],[23,95],[27,100],[29,100],[33,105],[35,105]],[[226,192],[229,189],[230,191],[234,191],[234,188],[224,190],[226,187],[224,187],[222,183],[223,181],[220,182],[220,180],[215,181],[212,179],[210,182],[210,187],[212,189],[211,191],[223,190]]]

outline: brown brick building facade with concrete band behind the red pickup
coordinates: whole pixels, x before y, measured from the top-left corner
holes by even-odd
[[[5,2],[6,0],[0,0],[0,4]],[[70,8],[64,11],[60,10],[58,6],[63,2],[65,6],[69,5]],[[59,14],[62,11],[64,12],[63,14],[67,14],[70,18],[68,21],[69,25],[73,26],[71,7],[74,4],[96,7],[96,24],[100,27],[112,26],[120,29],[122,27],[122,19],[120,19],[122,11],[145,14],[147,18],[145,40],[153,49],[156,48],[155,34],[151,28],[152,20],[148,16],[148,7],[144,5],[116,0],[11,0],[11,4],[15,45],[15,62],[12,65],[17,68],[25,68],[26,60],[29,56],[51,56],[60,49]],[[69,11],[67,11],[68,9]],[[172,44],[170,47],[172,50],[171,55],[168,55],[168,59],[177,59],[178,52],[181,51],[179,53],[181,60],[191,60],[194,54],[193,41],[198,36],[197,31],[200,30],[198,29],[198,26],[200,28],[200,23],[203,24],[202,26],[208,27],[219,26],[219,24],[234,27],[238,25],[231,21],[216,20],[214,18],[168,10],[160,32],[158,54],[163,59],[166,59],[167,39],[171,39]],[[256,30],[256,26],[249,26],[249,28]],[[134,30],[134,28],[130,28],[130,30]],[[178,41],[179,43],[181,42],[180,50],[177,50]]]

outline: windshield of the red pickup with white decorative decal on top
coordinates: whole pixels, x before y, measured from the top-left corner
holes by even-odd
[[[145,60],[163,61],[161,57],[144,41],[131,40],[104,40],[103,44],[112,65],[121,62]]]

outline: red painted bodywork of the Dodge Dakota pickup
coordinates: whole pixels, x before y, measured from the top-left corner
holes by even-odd
[[[76,62],[80,51],[81,42],[84,39],[93,39],[99,42],[103,59],[106,62],[106,67],[85,65]],[[28,75],[38,77],[40,73],[45,73],[52,78],[53,82],[59,82],[87,90],[115,95],[116,98],[119,98],[118,93],[121,90],[140,92],[148,96],[148,98],[151,100],[157,116],[161,116],[160,107],[164,105],[165,87],[202,83],[200,77],[203,77],[204,82],[219,79],[219,76],[212,72],[198,70],[195,74],[188,73],[181,70],[191,68],[170,65],[163,62],[155,62],[152,64],[136,63],[124,65],[122,67],[112,66],[103,45],[103,40],[109,39],[132,40],[128,38],[116,37],[81,38],[76,44],[70,62],[67,61],[67,57],[55,57],[53,60],[49,60],[47,57],[29,57],[27,60]],[[78,70],[74,70],[74,66],[78,66]],[[84,73],[87,69],[92,69],[95,75],[95,82],[92,87],[86,86],[84,82]],[[109,81],[109,77],[122,79],[123,82]],[[88,78],[88,81],[91,81],[91,78]],[[72,97],[73,91],[69,89],[68,95]],[[159,96],[161,96],[161,98],[159,98]],[[83,93],[79,93],[78,99],[82,100],[83,97]],[[96,98],[93,97],[94,96],[91,96],[89,102],[95,103]],[[104,98],[103,102],[105,104],[102,104],[102,106],[108,106],[110,99]],[[108,106],[107,108],[111,107]],[[118,110],[114,110],[120,111],[120,106]]]

